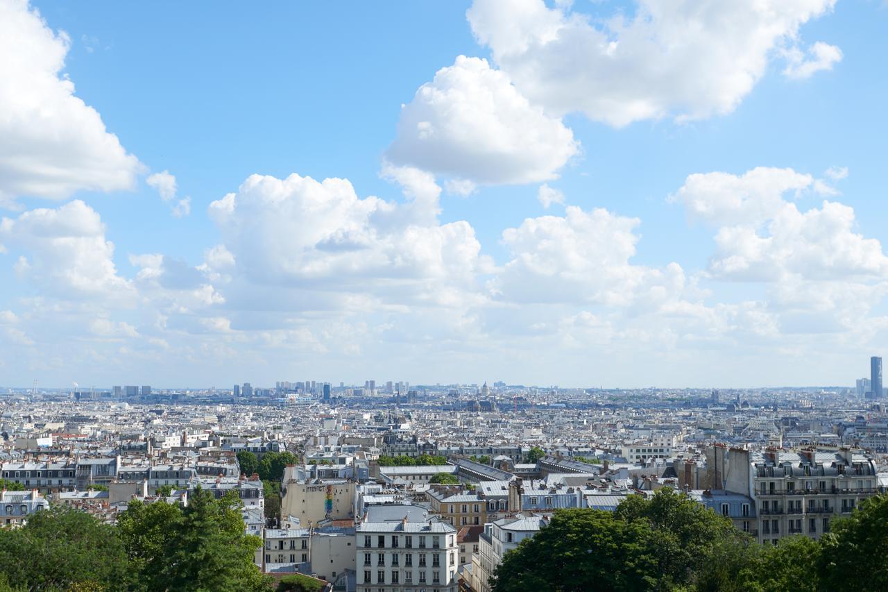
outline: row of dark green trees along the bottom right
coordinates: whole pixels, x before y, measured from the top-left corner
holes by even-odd
[[[698,590],[778,592],[888,589],[888,496],[860,504],[820,540],[759,545],[731,521],[664,488],[614,512],[558,510],[506,554],[495,592]]]

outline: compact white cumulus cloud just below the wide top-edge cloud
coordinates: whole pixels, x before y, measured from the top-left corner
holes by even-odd
[[[487,60],[459,56],[401,109],[392,164],[459,181],[448,189],[551,180],[579,143]]]

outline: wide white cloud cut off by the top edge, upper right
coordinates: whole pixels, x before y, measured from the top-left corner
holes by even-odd
[[[614,126],[733,111],[775,53],[811,76],[838,48],[799,49],[798,29],[836,0],[639,0],[634,14],[592,18],[543,0],[475,0],[472,31],[524,96],[554,115]],[[569,3],[568,3],[569,4]]]

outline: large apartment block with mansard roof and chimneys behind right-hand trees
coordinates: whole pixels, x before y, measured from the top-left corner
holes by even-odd
[[[849,449],[752,452],[717,444],[706,456],[714,490],[753,500],[756,527],[750,530],[759,542],[791,534],[817,539],[836,517],[880,492],[874,460]]]

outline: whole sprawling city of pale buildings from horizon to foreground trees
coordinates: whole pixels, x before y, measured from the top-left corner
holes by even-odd
[[[372,380],[10,391],[0,524],[53,503],[113,523],[131,500],[234,490],[245,531],[263,540],[261,570],[357,592],[487,592],[505,553],[559,508],[613,510],[661,487],[762,543],[818,538],[888,488],[888,416],[872,395],[881,360],[873,368],[862,393]],[[298,461],[266,500],[238,453],[285,451]]]

